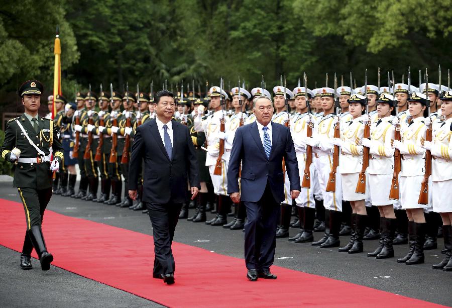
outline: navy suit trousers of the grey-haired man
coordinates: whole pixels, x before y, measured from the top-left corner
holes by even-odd
[[[275,258],[280,202],[275,200],[267,182],[259,201],[244,203],[248,217],[245,224],[245,264],[248,269],[269,270]]]

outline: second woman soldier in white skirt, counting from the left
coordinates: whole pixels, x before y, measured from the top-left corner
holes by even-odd
[[[378,248],[368,253],[368,257],[385,259],[394,256],[392,241],[395,232],[394,200],[389,199],[391,181],[394,173],[394,126],[391,123],[391,113],[394,111],[394,97],[381,94],[377,99],[377,114],[379,120],[371,126],[371,139],[364,138],[363,146],[369,148],[369,188],[372,205],[380,212],[380,244]],[[367,189],[366,189],[367,190]]]

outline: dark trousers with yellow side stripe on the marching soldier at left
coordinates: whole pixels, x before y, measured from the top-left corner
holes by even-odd
[[[28,236],[28,230],[33,226],[40,226],[42,224],[44,211],[52,197],[52,187],[46,189],[22,187],[18,188],[18,191],[22,204],[24,205],[25,220],[27,223],[22,253],[29,256],[33,250],[33,243]]]

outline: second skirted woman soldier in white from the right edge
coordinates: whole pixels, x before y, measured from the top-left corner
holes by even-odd
[[[424,178],[425,150],[422,145],[425,141],[426,127],[424,115],[426,113],[426,96],[413,92],[408,98],[408,111],[411,121],[402,127],[402,141],[394,140],[394,148],[402,155],[402,170],[400,172],[400,203],[406,210],[408,217],[408,254],[397,259],[399,263],[424,263],[423,245],[425,239],[424,204],[419,204],[418,197]],[[431,191],[431,190],[430,190]]]

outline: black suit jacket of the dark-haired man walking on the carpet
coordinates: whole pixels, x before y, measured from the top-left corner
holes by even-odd
[[[143,201],[181,203],[187,194],[187,178],[191,187],[200,188],[198,161],[185,125],[172,121],[173,154],[170,160],[155,119],[137,128],[129,164],[129,189],[138,187],[138,174],[144,160]]]

